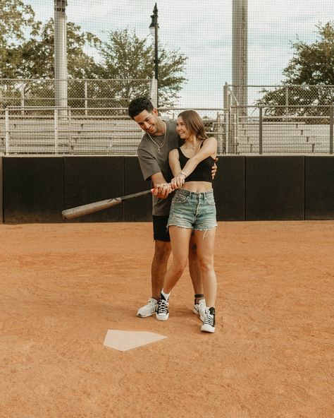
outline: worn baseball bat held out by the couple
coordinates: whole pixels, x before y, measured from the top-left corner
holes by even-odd
[[[99,210],[111,208],[111,206],[119,205],[123,201],[137,198],[139,196],[144,196],[145,194],[152,193],[153,191],[154,189],[149,189],[140,191],[139,193],[128,194],[127,196],[120,196],[119,198],[106,199],[106,201],[88,203],[87,205],[81,205],[77,206],[76,208],[63,210],[61,215],[63,215],[64,220],[74,219],[75,217],[80,217],[83,215],[88,215],[89,213],[98,212]]]

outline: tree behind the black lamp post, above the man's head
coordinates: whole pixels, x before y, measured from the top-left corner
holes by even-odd
[[[140,39],[128,29],[108,33],[99,49],[103,71],[102,78],[123,80],[109,86],[115,97],[132,98],[147,94],[147,83],[134,83],[131,79],[151,79],[154,76],[154,47],[147,37]],[[167,50],[159,45],[159,104],[175,103],[185,82],[187,57],[178,50]]]

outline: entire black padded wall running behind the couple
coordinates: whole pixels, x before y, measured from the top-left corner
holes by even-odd
[[[0,222],[6,223],[63,222],[63,209],[151,186],[137,157],[2,157],[1,174]],[[333,179],[334,156],[220,156],[217,219],[333,220]],[[147,195],[70,222],[150,220]]]

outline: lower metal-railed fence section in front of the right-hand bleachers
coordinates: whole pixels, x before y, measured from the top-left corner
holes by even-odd
[[[299,106],[289,106],[288,116],[282,107],[230,107],[227,153],[333,154],[332,105],[304,106],[304,116],[294,112]]]

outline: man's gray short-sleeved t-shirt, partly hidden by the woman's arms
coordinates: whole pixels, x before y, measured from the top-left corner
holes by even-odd
[[[175,121],[165,121],[166,123],[166,142],[159,151],[154,142],[147,133],[142,137],[138,145],[137,153],[142,169],[144,180],[149,180],[153,174],[161,172],[166,181],[171,181],[173,174],[168,163],[169,151],[180,146],[180,136],[176,133]],[[154,136],[153,139],[159,145],[163,143],[163,135]],[[153,196],[153,215],[168,215],[171,209],[173,193],[170,193],[166,199]]]

